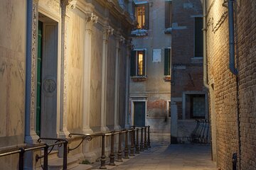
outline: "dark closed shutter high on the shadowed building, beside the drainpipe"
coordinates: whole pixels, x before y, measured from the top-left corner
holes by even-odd
[[[203,57],[203,18],[195,18],[195,57]]]

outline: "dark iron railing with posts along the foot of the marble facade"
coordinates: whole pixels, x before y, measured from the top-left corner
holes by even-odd
[[[73,148],[68,147],[68,143],[71,141],[70,138],[48,138],[41,137],[38,139],[38,145],[36,146],[28,146],[28,147],[20,147],[19,149],[9,149],[5,152],[0,152],[0,157],[8,156],[11,154],[19,154],[18,157],[18,169],[24,169],[24,154],[28,151],[43,149],[43,155],[36,154],[36,162],[40,159],[43,159],[42,168],[44,170],[48,169],[48,155],[53,151],[55,146],[62,147],[63,146],[63,170],[68,169],[68,153],[74,149],[77,149],[84,140],[91,141],[94,137],[102,137],[102,153],[100,157],[100,169],[107,169],[106,167],[106,156],[105,156],[105,139],[106,137],[111,137],[110,142],[110,166],[114,166],[114,137],[118,135],[118,149],[117,149],[117,160],[116,162],[122,162],[122,152],[124,152],[124,159],[129,159],[129,156],[134,156],[134,154],[139,154],[139,152],[143,152],[145,149],[150,148],[150,137],[149,137],[149,126],[145,127],[136,127],[132,126],[131,129],[124,129],[119,131],[111,131],[111,132],[99,132],[93,134],[80,134],[80,133],[70,133],[68,137],[80,138],[80,143]],[[140,145],[139,145],[139,131],[140,131]],[[124,150],[122,151],[122,135],[124,134]],[[128,141],[130,136],[130,141]],[[47,141],[53,141],[51,144],[47,144]],[[130,144],[130,147],[128,146]],[[50,148],[50,149],[49,149]],[[135,152],[134,152],[135,150]]]

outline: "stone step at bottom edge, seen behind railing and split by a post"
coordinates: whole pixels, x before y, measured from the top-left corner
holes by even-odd
[[[73,157],[68,157],[68,169],[73,169],[79,166],[78,159]],[[50,170],[60,170],[63,169],[63,158],[55,158],[48,160],[48,169]]]

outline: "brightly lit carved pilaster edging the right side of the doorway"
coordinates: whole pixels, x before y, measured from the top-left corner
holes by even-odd
[[[68,137],[68,21],[70,8],[75,8],[76,0],[61,1],[61,71],[60,71],[60,132],[59,137]]]

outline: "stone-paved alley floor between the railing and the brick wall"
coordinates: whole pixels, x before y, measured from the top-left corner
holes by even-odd
[[[210,145],[169,145],[169,140],[153,140],[150,149],[107,169],[216,170],[210,158]]]

